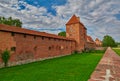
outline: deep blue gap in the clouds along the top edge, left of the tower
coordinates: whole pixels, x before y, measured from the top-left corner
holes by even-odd
[[[55,9],[52,8],[52,6],[60,6],[65,5],[66,0],[19,0],[24,1],[30,5],[33,5],[35,7],[45,7],[47,9],[47,13],[51,13],[52,15],[56,15]],[[21,9],[25,9],[24,5],[20,5]]]

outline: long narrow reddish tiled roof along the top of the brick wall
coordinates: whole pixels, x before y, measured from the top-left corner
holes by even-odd
[[[4,24],[0,24],[0,31],[15,32],[15,33],[22,33],[22,34],[29,34],[29,35],[37,35],[37,36],[44,36],[44,37],[51,37],[51,38],[65,39],[65,40],[74,40],[71,38],[66,38],[63,36],[55,35],[55,34],[38,32],[38,31],[28,30],[25,28],[19,28],[19,27],[15,27],[15,26],[8,26],[8,25],[4,25]]]

